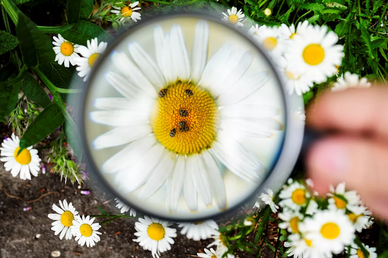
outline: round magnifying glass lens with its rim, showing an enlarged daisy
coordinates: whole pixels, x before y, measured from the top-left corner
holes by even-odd
[[[81,138],[104,189],[147,215],[198,221],[288,178],[303,100],[246,32],[200,14],[137,24],[99,57]]]

